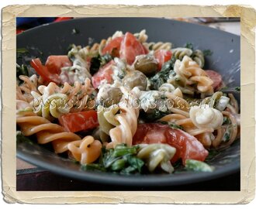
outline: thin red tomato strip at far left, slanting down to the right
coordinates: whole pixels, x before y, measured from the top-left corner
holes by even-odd
[[[58,74],[51,74],[46,66],[44,66],[39,58],[30,61],[30,65],[36,70],[36,73],[43,77],[43,81],[48,83],[54,82],[60,84],[61,80]]]

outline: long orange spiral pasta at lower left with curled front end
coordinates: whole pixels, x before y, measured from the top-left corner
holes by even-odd
[[[90,135],[81,139],[74,133],[64,132],[61,125],[53,124],[33,112],[19,113],[16,122],[23,135],[36,134],[39,144],[51,142],[56,153],[69,151],[81,164],[92,163],[100,156],[102,144]]]

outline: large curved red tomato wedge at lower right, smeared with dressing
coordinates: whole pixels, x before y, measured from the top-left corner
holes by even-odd
[[[185,165],[186,159],[204,161],[208,156],[208,151],[202,146],[202,143],[187,132],[158,123],[138,125],[137,132],[133,136],[133,144],[152,143],[167,143],[175,147],[176,152],[171,159],[172,163],[181,158]]]

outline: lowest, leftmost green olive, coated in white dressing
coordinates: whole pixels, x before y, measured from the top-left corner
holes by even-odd
[[[122,91],[119,87],[106,87],[100,88],[98,94],[99,105],[109,108],[111,105],[116,105],[122,98]]]

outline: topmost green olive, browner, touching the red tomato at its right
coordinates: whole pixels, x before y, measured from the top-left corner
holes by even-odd
[[[157,60],[151,55],[139,55],[134,61],[134,69],[150,75],[157,71]]]

